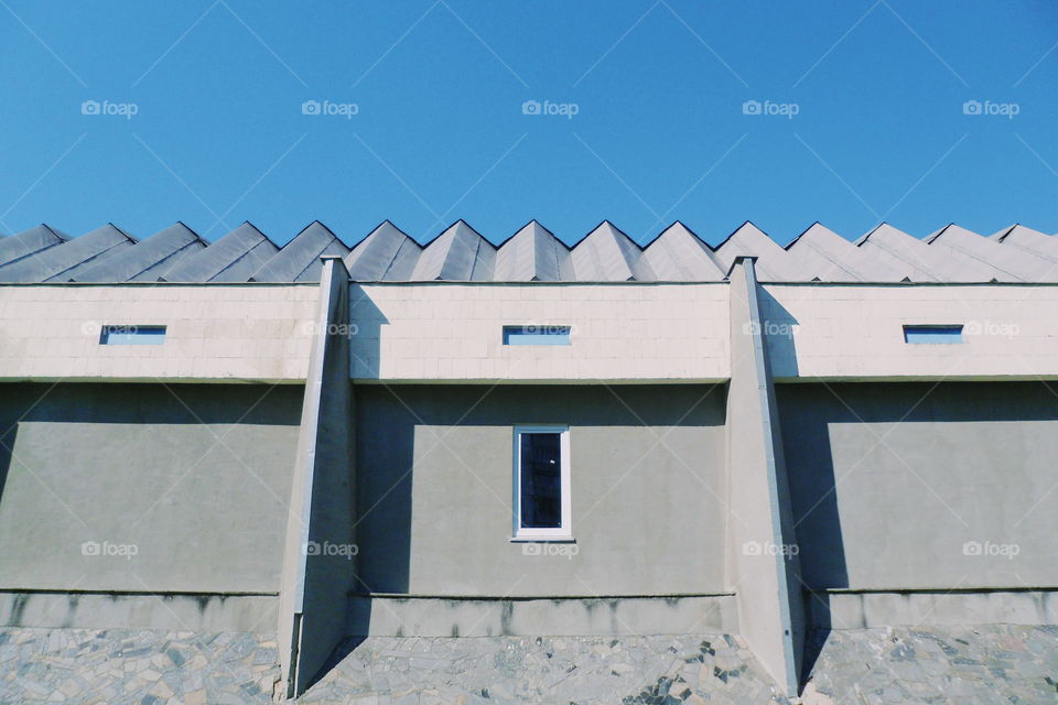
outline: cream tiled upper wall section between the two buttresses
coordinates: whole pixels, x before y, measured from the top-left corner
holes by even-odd
[[[353,376],[381,380],[719,380],[726,284],[354,284]],[[566,325],[569,346],[505,346]]]

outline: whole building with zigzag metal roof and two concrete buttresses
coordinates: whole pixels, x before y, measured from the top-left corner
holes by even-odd
[[[1058,238],[0,238],[9,628],[1058,623]],[[268,665],[268,664],[266,664]],[[274,680],[274,679],[272,679]],[[267,688],[261,687],[261,692]]]

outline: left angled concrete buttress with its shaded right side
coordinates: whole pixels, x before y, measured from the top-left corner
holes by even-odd
[[[349,275],[324,258],[301,412],[280,587],[279,654],[288,697],[312,683],[345,636],[356,571]]]

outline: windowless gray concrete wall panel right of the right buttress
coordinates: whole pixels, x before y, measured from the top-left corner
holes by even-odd
[[[1058,585],[1058,398],[1048,384],[778,391],[809,585]]]

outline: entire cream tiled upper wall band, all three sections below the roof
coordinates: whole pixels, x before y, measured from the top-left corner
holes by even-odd
[[[361,380],[687,380],[730,376],[725,283],[353,284]],[[295,381],[319,288],[0,286],[0,379]],[[773,372],[790,378],[1058,375],[1058,286],[766,284]],[[505,346],[505,325],[572,326],[569,346]],[[962,324],[908,345],[905,324]],[[161,346],[105,346],[102,325],[165,325]]]

